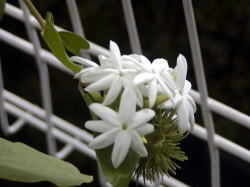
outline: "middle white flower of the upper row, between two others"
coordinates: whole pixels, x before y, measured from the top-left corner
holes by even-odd
[[[169,69],[168,62],[163,58],[158,58],[151,64],[150,61],[142,55],[134,57],[139,59],[140,63],[137,65],[141,67],[141,72],[135,77],[134,83],[136,85],[144,84],[148,89],[149,107],[154,106],[159,91],[172,97],[173,93],[167,84],[168,79],[166,79],[168,78],[166,76]],[[163,73],[165,77],[162,77]]]

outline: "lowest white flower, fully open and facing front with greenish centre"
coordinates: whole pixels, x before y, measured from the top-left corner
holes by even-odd
[[[124,90],[118,112],[97,103],[91,104],[89,108],[101,120],[87,121],[85,127],[102,133],[89,146],[102,149],[114,144],[112,163],[115,168],[124,161],[130,147],[141,157],[147,156],[141,136],[154,131],[153,125],[147,122],[154,117],[155,112],[151,109],[136,112],[136,96],[131,89]]]

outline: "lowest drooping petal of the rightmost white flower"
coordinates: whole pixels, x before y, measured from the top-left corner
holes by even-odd
[[[189,113],[183,101],[177,107],[177,123],[181,132],[190,130]]]

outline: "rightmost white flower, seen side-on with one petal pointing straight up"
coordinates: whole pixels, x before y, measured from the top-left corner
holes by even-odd
[[[187,62],[183,55],[178,56],[177,65],[172,74],[176,83],[175,96],[172,101],[166,101],[161,107],[166,109],[176,108],[178,126],[184,132],[191,130],[195,123],[194,113],[196,112],[196,105],[193,98],[189,95],[191,83],[186,80]]]

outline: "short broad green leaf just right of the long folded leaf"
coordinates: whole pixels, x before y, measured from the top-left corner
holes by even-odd
[[[89,49],[87,40],[73,32],[59,32],[64,47],[71,53],[80,56],[81,49]]]

